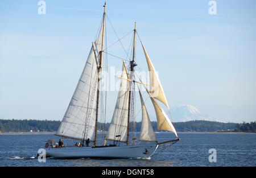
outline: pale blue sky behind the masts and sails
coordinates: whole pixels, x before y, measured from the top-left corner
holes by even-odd
[[[105,1],[46,0],[46,15],[38,14],[38,2],[0,2],[0,118],[63,118]],[[106,13],[119,37],[137,22],[170,107],[189,104],[222,121],[255,121],[256,1],[216,2],[217,15],[208,13],[208,0],[107,1]],[[112,44],[117,38],[106,26]],[[109,121],[115,97],[110,92]]]

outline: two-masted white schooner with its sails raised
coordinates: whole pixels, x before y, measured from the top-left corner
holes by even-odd
[[[133,30],[133,57],[129,61],[129,68],[122,63],[121,77],[116,76],[120,80],[117,102],[110,123],[108,133],[104,137],[104,143],[97,142],[98,113],[100,101],[100,83],[102,59],[104,52],[104,35],[105,35],[105,16],[106,3],[104,5],[104,15],[100,32],[96,41],[92,43],[88,59],[82,71],[75,92],[69,102],[67,111],[64,114],[63,121],[57,130],[57,136],[61,138],[69,138],[80,140],[84,143],[88,138],[93,142],[92,147],[65,146],[59,148],[48,147],[46,155],[53,158],[150,158],[159,145],[176,143],[179,139],[176,130],[172,125],[167,114],[164,112],[158,102],[162,102],[169,109],[163,87],[160,84],[159,77],[155,71],[154,65],[151,63],[150,57],[146,52],[142,42],[142,48],[146,57],[148,71],[150,72],[150,87],[144,84],[140,79],[135,80],[134,68],[137,64],[134,61],[135,40],[136,40],[136,23]],[[155,109],[157,118],[157,129],[171,131],[175,134],[176,139],[158,142],[154,130],[148,116],[141,91],[139,96],[141,99],[142,125],[138,138],[135,143],[131,138],[130,125],[131,115],[133,112],[135,85],[143,85]],[[105,133],[104,133],[105,134]],[[131,140],[131,142],[130,142]],[[113,144],[106,144],[111,142]],[[124,143],[124,144],[118,144]]]

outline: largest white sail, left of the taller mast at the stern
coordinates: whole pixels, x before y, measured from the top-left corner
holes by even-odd
[[[97,64],[92,47],[56,135],[78,140],[94,139],[97,76]]]

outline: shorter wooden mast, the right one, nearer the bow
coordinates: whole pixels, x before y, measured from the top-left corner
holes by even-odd
[[[133,39],[133,60],[130,61],[130,80],[133,79],[133,71],[134,71],[134,56],[135,56],[135,39],[136,39],[136,22],[134,27],[134,39]],[[129,104],[128,104],[128,119],[127,119],[127,140],[126,145],[129,145],[129,132],[130,132],[130,110],[131,110],[131,84],[129,84]]]

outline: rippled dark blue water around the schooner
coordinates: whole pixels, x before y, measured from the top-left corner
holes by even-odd
[[[159,133],[159,141],[172,138],[172,133]],[[256,166],[256,134],[178,133],[181,140],[159,150],[150,160],[144,159],[71,159],[49,158],[39,163],[36,154],[44,148],[48,135],[0,135],[0,166]],[[64,139],[64,143],[73,140]],[[217,162],[208,160],[209,149],[217,151]]]

